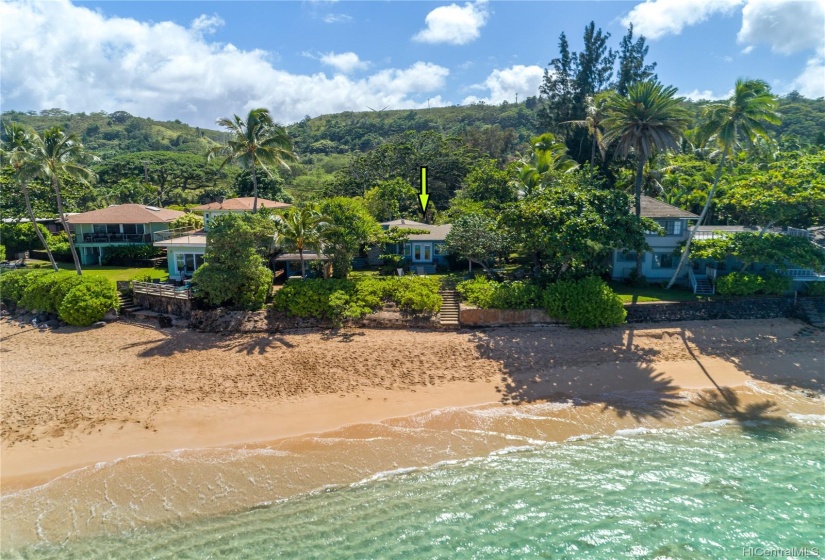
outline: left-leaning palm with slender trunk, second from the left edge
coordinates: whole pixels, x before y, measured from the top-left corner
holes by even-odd
[[[66,135],[59,126],[55,126],[42,135],[32,136],[31,151],[20,168],[21,179],[24,181],[39,178],[51,183],[57,198],[60,223],[63,224],[63,230],[69,237],[69,249],[72,251],[72,259],[78,275],[82,274],[83,270],[80,268],[80,259],[74,246],[72,232],[69,231],[66,215],[63,213],[63,195],[60,189],[61,176],[72,177],[84,184],[89,184],[95,179],[95,174],[78,161],[85,155],[83,146],[78,142],[75,134]]]

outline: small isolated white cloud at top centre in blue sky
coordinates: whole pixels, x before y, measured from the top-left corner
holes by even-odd
[[[427,27],[414,35],[413,40],[466,45],[478,39],[488,16],[486,0],[478,0],[475,4],[467,2],[464,7],[458,4],[441,6],[427,14],[424,19]]]

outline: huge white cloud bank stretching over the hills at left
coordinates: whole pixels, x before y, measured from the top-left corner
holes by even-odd
[[[109,18],[67,0],[0,2],[0,104],[125,110],[205,127],[254,107],[268,107],[289,123],[366,105],[426,107],[419,95],[432,106],[447,104],[437,94],[449,70],[436,64],[417,62],[358,80],[292,74],[273,66],[270,53],[206,40],[218,24],[215,16],[189,28]]]

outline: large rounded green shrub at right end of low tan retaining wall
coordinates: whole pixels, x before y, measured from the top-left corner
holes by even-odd
[[[589,329],[621,325],[627,317],[621,298],[595,276],[548,286],[544,307],[551,317],[573,327]]]

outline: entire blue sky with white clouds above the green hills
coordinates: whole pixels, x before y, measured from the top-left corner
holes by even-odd
[[[825,0],[0,0],[0,110],[128,111],[215,128],[536,95],[564,32],[617,49],[632,23],[659,80],[718,99],[739,77],[825,96]]]

